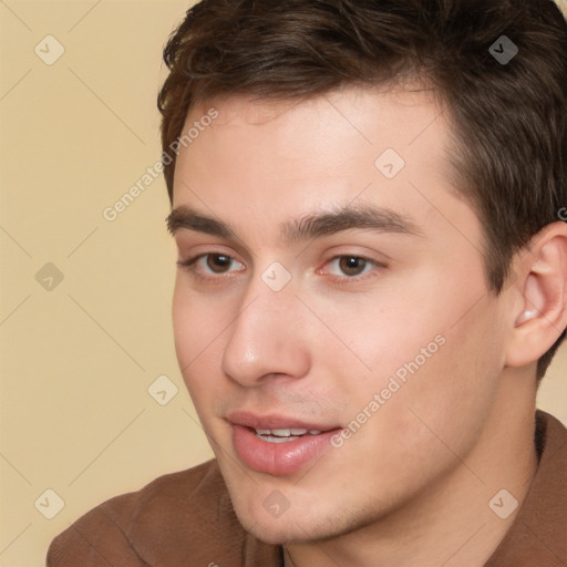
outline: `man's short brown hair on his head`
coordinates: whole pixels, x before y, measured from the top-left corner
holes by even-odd
[[[518,50],[508,62],[492,48],[502,41]],[[164,151],[190,107],[218,95],[300,99],[425,78],[450,112],[455,178],[483,223],[497,293],[514,254],[567,204],[567,23],[551,0],[203,0],[164,61]],[[171,200],[174,168],[164,163]]]

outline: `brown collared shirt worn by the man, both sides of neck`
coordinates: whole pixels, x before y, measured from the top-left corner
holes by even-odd
[[[567,567],[567,430],[537,412],[539,466],[485,567]],[[48,567],[282,567],[240,526],[216,461],[95,507],[52,542]]]

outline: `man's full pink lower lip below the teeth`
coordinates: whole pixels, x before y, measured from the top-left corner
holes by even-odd
[[[270,443],[256,436],[248,427],[233,423],[233,443],[238,456],[250,468],[275,476],[291,475],[301,471],[310,461],[318,457],[329,445],[336,429],[295,441]]]

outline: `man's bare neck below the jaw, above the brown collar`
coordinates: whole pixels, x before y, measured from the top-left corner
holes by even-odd
[[[467,455],[455,455],[450,473],[371,525],[330,540],[286,545],[285,566],[484,566],[537,470],[535,384],[533,395],[514,395],[518,382],[518,377],[503,377],[478,442]]]

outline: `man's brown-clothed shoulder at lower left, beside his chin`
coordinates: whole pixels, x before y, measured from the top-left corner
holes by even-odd
[[[55,537],[47,565],[240,565],[249,538],[209,461],[96,506]]]

